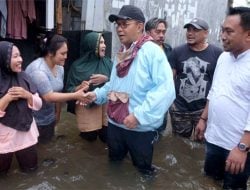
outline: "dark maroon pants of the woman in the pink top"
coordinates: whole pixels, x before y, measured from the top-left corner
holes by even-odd
[[[23,172],[37,169],[37,151],[35,145],[33,145],[17,152],[0,154],[0,174],[7,174],[14,154]]]

